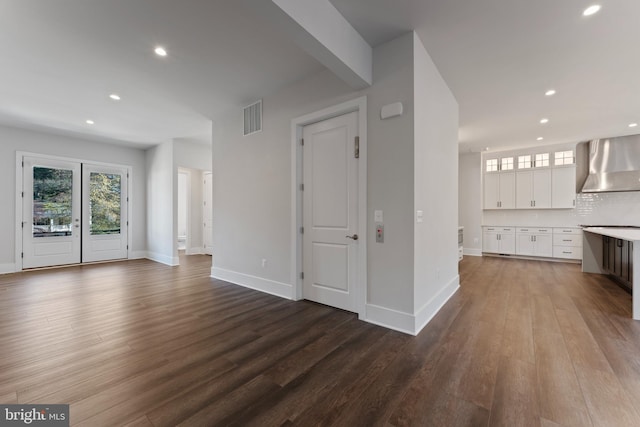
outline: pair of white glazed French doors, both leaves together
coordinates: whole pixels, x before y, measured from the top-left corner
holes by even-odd
[[[22,268],[127,258],[126,168],[22,160]]]

